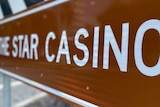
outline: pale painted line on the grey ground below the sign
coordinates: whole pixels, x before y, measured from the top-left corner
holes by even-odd
[[[42,99],[46,96],[47,96],[47,94],[42,92],[42,93],[34,95],[30,98],[27,98],[24,101],[20,101],[19,103],[15,104],[13,107],[26,107],[28,104],[32,104],[32,103],[34,103],[34,102],[36,102],[36,101],[38,101],[38,100],[40,100],[40,99]]]

